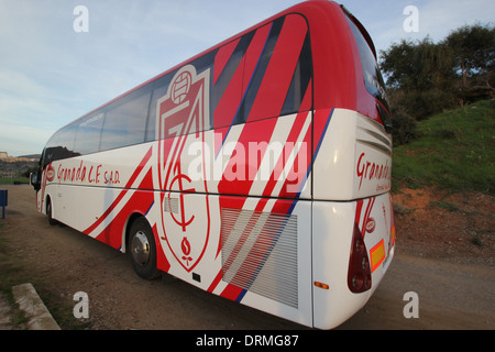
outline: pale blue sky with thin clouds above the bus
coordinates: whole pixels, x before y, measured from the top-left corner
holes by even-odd
[[[0,151],[40,154],[70,121],[298,2],[0,0]],[[493,0],[338,2],[378,52],[495,19]]]

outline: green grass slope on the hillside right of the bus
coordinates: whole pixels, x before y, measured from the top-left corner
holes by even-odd
[[[495,195],[495,101],[418,123],[421,136],[394,148],[394,189],[437,186]]]

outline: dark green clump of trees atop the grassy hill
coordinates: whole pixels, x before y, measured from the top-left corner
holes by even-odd
[[[402,40],[381,52],[380,66],[399,111],[416,120],[490,99],[495,92],[495,29],[465,25],[438,44],[428,36]]]

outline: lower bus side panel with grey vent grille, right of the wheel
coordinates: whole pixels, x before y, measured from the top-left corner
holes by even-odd
[[[309,201],[160,194],[161,201],[178,200],[169,202],[157,223],[166,258],[160,270],[215,295],[311,324]],[[157,209],[148,218],[160,216]],[[194,231],[184,232],[189,220]]]

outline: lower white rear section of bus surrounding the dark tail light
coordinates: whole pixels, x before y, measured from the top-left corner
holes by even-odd
[[[315,327],[331,329],[360,310],[387,271],[395,248],[392,198],[385,194],[349,202],[316,201],[312,208],[314,279],[328,285],[315,287]],[[349,266],[355,224],[364,238],[371,272],[371,288],[352,293]]]

